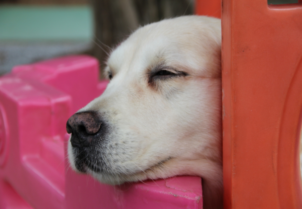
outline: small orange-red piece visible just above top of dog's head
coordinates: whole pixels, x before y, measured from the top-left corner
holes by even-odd
[[[221,0],[196,0],[195,14],[221,18]]]

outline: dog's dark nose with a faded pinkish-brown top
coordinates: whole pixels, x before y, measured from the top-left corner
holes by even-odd
[[[80,148],[89,146],[101,125],[101,119],[96,111],[73,114],[66,123],[67,133],[71,133],[71,145]]]

